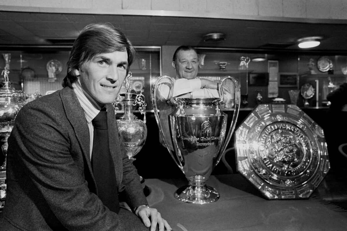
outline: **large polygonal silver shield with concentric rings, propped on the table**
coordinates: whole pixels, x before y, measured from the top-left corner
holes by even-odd
[[[308,198],[330,169],[322,128],[296,105],[257,106],[235,140],[238,172],[268,199]]]

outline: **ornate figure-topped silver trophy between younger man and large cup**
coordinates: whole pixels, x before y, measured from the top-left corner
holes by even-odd
[[[142,94],[134,94],[130,91],[130,78],[132,77],[131,72],[125,78],[125,87],[127,89],[126,93],[120,94],[124,97],[121,99],[117,97],[113,102],[113,107],[115,107],[115,113],[118,111],[117,105],[124,105],[124,114],[117,119],[119,133],[123,136],[124,146],[127,151],[129,159],[135,160],[133,157],[142,149],[146,137],[147,137],[147,127],[146,127],[146,103],[145,97]],[[135,97],[135,99],[134,99]],[[133,114],[133,106],[139,105],[139,112],[144,115],[143,121],[136,118]]]

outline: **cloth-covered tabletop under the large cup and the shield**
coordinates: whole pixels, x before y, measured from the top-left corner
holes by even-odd
[[[346,203],[347,177],[336,174],[328,173],[309,199],[295,200],[268,200],[239,174],[214,175],[208,185],[218,190],[220,199],[203,205],[174,197],[187,184],[184,178],[146,179],[145,184],[151,190],[150,206],[175,231],[347,230],[347,210],[333,203]]]

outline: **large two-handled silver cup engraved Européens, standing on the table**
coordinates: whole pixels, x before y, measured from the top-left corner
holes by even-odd
[[[215,202],[220,197],[216,189],[206,186],[206,181],[230,141],[240,108],[240,88],[234,78],[226,77],[220,80],[219,92],[222,92],[221,86],[226,79],[231,80],[235,87],[234,114],[226,140],[227,115],[219,108],[223,94],[220,98],[174,98],[174,82],[170,77],[161,76],[154,83],[152,101],[160,134],[171,157],[189,182],[188,186],[175,192],[175,197],[180,201],[205,204]],[[169,101],[176,107],[169,115],[169,124],[161,124],[157,107],[157,99],[160,98],[157,97],[158,83],[163,80],[168,80],[166,83],[170,87]],[[170,128],[175,154],[169,148],[162,126]]]

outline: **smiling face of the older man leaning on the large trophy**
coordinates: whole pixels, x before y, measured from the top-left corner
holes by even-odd
[[[172,62],[178,78],[194,79],[198,71],[198,58],[194,50],[178,51],[176,60]]]

